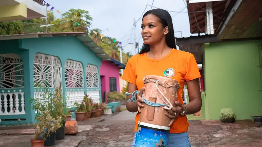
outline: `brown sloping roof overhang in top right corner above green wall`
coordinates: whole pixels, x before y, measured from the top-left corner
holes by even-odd
[[[215,34],[218,39],[262,37],[261,0],[231,0]]]

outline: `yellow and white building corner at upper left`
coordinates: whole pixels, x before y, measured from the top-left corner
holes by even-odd
[[[0,22],[45,17],[42,0],[0,0]]]

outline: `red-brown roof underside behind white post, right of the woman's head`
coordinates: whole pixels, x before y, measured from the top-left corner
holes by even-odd
[[[214,30],[221,22],[228,0],[186,0],[190,33],[205,33],[206,31],[206,2],[212,2]]]

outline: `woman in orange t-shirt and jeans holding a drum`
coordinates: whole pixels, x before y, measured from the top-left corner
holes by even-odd
[[[193,54],[176,50],[174,29],[170,14],[163,9],[147,11],[143,16],[141,35],[144,40],[142,49],[138,55],[132,56],[125,67],[122,79],[128,82],[127,91],[133,93],[140,90],[137,102],[126,104],[128,111],[137,112],[135,117],[135,132],[137,130],[140,107],[144,107],[141,94],[144,91],[143,77],[157,75],[173,78],[180,83],[181,88],[177,92],[177,107],[166,110],[165,115],[171,118],[170,136],[168,146],[190,146],[187,129],[189,123],[185,114],[194,114],[200,111],[202,106],[198,78],[200,73]],[[183,106],[182,92],[185,83],[188,88],[189,101]],[[130,99],[128,96],[127,99]],[[135,137],[133,146],[135,145]]]

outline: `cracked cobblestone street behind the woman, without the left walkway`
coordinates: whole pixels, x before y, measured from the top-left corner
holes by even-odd
[[[127,114],[129,112],[121,112]],[[121,118],[119,113],[114,118]],[[130,113],[131,114],[131,113]],[[133,114],[132,114],[133,115]],[[262,146],[262,128],[251,120],[236,123],[220,123],[219,121],[191,120],[188,130],[192,146],[241,147]],[[85,136],[78,147],[110,147],[131,146],[134,136],[134,120],[108,120],[93,126],[93,129],[78,133]]]

